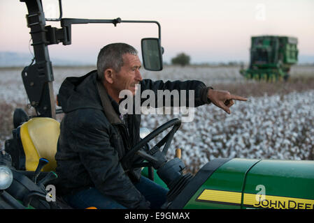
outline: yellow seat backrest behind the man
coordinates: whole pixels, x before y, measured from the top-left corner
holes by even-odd
[[[49,160],[42,171],[55,171],[60,123],[53,118],[31,118],[20,126],[25,169],[35,171],[41,157]]]

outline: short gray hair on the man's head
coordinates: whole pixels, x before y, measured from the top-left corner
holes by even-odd
[[[122,56],[124,54],[137,55],[137,50],[127,43],[111,43],[103,47],[97,58],[98,78],[104,80],[104,71],[112,68],[119,72],[123,66]]]

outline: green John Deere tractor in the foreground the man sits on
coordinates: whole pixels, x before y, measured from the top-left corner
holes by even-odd
[[[52,94],[52,66],[48,45],[71,43],[71,24],[82,22],[123,22],[123,20],[62,19],[62,28],[45,26],[41,0],[23,0],[27,4],[28,26],[36,63],[22,71],[22,79],[36,116],[22,109],[13,114],[13,137],[0,151],[0,209],[71,208],[57,196],[53,181],[59,122],[55,119]],[[61,1],[60,1],[61,5]],[[124,21],[125,22],[125,21]],[[160,28],[160,26],[159,26]],[[160,32],[159,32],[160,34]],[[162,69],[159,38],[142,40],[144,68]],[[126,169],[143,167],[142,174],[169,188],[165,209],[192,208],[299,208],[314,209],[314,161],[250,160],[217,158],[205,164],[197,174],[185,173],[180,154],[166,157],[181,121],[175,118],[152,132],[143,132],[141,141],[122,158]],[[164,132],[155,146],[148,142]],[[144,158],[129,166],[135,153]],[[172,215],[171,215],[172,216]]]

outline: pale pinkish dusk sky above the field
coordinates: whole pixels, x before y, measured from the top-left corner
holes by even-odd
[[[164,61],[168,62],[180,52],[189,54],[192,63],[248,61],[250,37],[259,35],[297,37],[299,55],[314,55],[311,0],[63,0],[62,5],[63,17],[157,20],[162,26]],[[1,52],[32,51],[26,14],[25,3],[0,0]],[[51,8],[45,11],[48,14],[53,14]],[[59,27],[59,22],[46,24]],[[95,63],[104,45],[124,42],[140,51],[145,37],[157,37],[155,24],[75,24],[72,45],[50,45],[50,58]]]

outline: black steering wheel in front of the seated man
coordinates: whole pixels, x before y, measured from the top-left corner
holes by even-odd
[[[139,141],[136,146],[131,148],[131,150],[122,158],[121,163],[124,169],[129,170],[137,167],[154,167],[155,169],[158,169],[164,162],[166,162],[166,153],[173,139],[173,135],[176,133],[178,128],[180,128],[180,125],[180,119],[174,118],[150,132],[150,134],[148,134],[144,139],[141,139],[141,141]],[[173,128],[170,132],[168,132],[168,134],[166,134],[166,136],[163,137],[154,147],[152,147],[149,151],[143,150],[143,147],[148,144],[150,140],[154,139],[158,134],[171,127]],[[164,148],[160,151],[159,148],[162,146],[164,146]],[[143,161],[132,164],[135,154],[143,157],[148,162]]]

